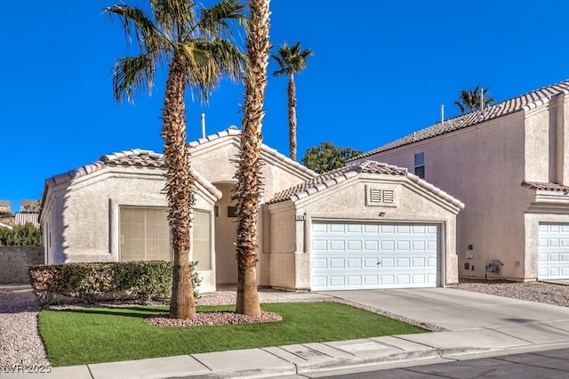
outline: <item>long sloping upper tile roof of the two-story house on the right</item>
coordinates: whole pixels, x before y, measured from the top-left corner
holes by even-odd
[[[499,103],[487,106],[482,110],[475,110],[469,113],[465,113],[461,116],[449,118],[442,123],[439,122],[435,125],[431,125],[418,132],[406,135],[397,141],[389,142],[386,145],[383,145],[377,149],[370,150],[360,156],[350,158],[349,161],[361,159],[363,157],[369,157],[373,154],[387,151],[389,149],[396,149],[413,142],[427,140],[437,135],[451,133],[456,130],[464,129],[472,125],[477,125],[485,121],[506,116],[522,110],[527,111],[534,109],[555,99],[557,96],[567,93],[569,93],[569,80],[540,88],[531,93],[525,93],[507,101],[501,101]]]

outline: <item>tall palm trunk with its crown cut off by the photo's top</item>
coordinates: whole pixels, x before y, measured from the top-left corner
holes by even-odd
[[[257,293],[257,220],[262,187],[260,174],[260,133],[265,111],[267,86],[268,29],[270,0],[249,1],[249,33],[247,56],[251,74],[244,78],[244,115],[241,149],[236,172],[237,184],[233,199],[237,204],[237,298],[236,312],[260,316]]]

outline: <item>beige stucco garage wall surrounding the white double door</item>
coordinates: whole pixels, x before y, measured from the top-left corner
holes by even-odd
[[[395,190],[397,206],[366,206],[368,185]],[[293,203],[269,206],[271,213],[271,286],[290,290],[310,288],[310,226],[314,221],[420,222],[439,226],[441,286],[458,282],[456,214],[459,208],[405,177],[360,173],[323,192]],[[383,216],[379,214],[384,213]],[[296,221],[295,215],[306,215]]]

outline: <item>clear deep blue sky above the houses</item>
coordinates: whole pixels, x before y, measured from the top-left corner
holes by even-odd
[[[117,104],[111,71],[129,49],[113,0],[3,4],[0,199],[37,199],[44,180],[124,149],[161,152],[164,75],[152,96]],[[130,1],[128,4],[147,4]],[[204,0],[204,5],[213,4]],[[271,42],[310,47],[296,77],[299,160],[321,141],[369,150],[459,110],[461,89],[503,101],[569,77],[569,2],[273,0]],[[348,5],[347,5],[348,4]],[[468,4],[468,6],[466,6]],[[270,61],[269,73],[276,70]],[[187,96],[188,141],[240,127],[243,88],[223,82],[209,105]],[[286,79],[268,78],[264,143],[288,154]]]

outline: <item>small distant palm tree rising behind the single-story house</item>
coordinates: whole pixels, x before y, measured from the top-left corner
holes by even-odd
[[[276,60],[280,69],[273,72],[274,77],[288,76],[288,145],[290,157],[296,160],[296,85],[294,74],[306,69],[306,60],[314,53],[310,49],[301,50],[301,41],[293,46],[284,43],[278,48],[278,55],[270,56]]]

